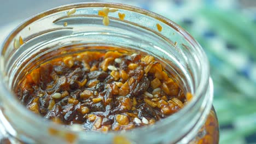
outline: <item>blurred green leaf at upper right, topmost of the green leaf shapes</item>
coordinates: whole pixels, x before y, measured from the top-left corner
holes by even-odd
[[[256,26],[237,11],[207,8],[200,10],[208,25],[223,39],[229,41],[256,59]]]

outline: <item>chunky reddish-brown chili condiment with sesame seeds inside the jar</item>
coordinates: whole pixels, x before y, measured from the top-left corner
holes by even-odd
[[[16,94],[27,109],[85,130],[129,130],[182,109],[185,95],[153,56],[85,51],[30,71]]]

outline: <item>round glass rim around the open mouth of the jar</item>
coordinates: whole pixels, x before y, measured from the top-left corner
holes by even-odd
[[[139,128],[135,128],[135,129],[128,130],[128,131],[122,131],[121,134],[132,134],[132,133],[139,133],[139,131],[153,131],[158,128],[163,128],[163,127],[165,127],[165,125],[167,125],[169,123],[173,123],[173,122],[177,121],[178,119],[181,119],[184,115],[187,115],[187,113],[189,113],[190,110],[193,109],[193,107],[203,97],[203,95],[205,95],[207,88],[209,86],[209,79],[210,79],[210,68],[208,66],[207,57],[206,57],[205,53],[203,52],[202,47],[197,43],[197,41],[193,37],[191,37],[191,35],[188,32],[186,32],[182,27],[177,25],[175,22],[167,19],[164,16],[153,13],[152,11],[133,7],[131,5],[126,5],[126,4],[99,3],[99,2],[75,3],[75,4],[62,5],[57,8],[49,9],[49,10],[43,11],[42,13],[39,13],[35,16],[30,17],[28,20],[25,20],[18,27],[16,27],[14,29],[14,31],[8,35],[7,39],[5,39],[4,43],[1,46],[1,49],[0,49],[1,50],[1,59],[0,59],[1,82],[0,82],[0,86],[2,87],[2,89],[4,91],[3,92],[4,94],[13,96],[13,97],[8,97],[7,100],[10,102],[11,105],[16,107],[16,110],[19,110],[22,113],[24,113],[24,116],[26,116],[27,118],[30,118],[31,121],[42,123],[43,125],[45,125],[45,127],[47,125],[47,127],[50,126],[50,127],[56,128],[56,129],[63,130],[63,125],[55,124],[50,121],[44,121],[42,117],[35,115],[34,113],[28,111],[24,106],[22,106],[19,103],[19,101],[15,98],[16,97],[15,94],[13,92],[11,92],[11,90],[8,88],[8,86],[5,83],[7,77],[4,72],[4,62],[3,62],[4,58],[2,55],[4,55],[4,53],[7,51],[8,46],[11,45],[11,43],[12,43],[13,39],[16,37],[16,35],[23,28],[27,27],[34,21],[37,21],[39,19],[42,19],[45,16],[48,16],[48,15],[51,15],[51,14],[54,14],[54,13],[57,13],[60,11],[66,11],[66,10],[69,10],[72,8],[85,8],[85,7],[102,7],[102,8],[110,7],[110,8],[117,8],[117,9],[121,8],[124,10],[129,10],[129,11],[133,11],[135,13],[139,13],[142,15],[147,15],[149,17],[152,17],[155,20],[165,23],[170,28],[174,29],[178,34],[182,35],[182,37],[196,49],[197,55],[202,58],[201,61],[196,61],[196,63],[200,65],[201,71],[203,71],[201,77],[197,77],[197,79],[200,79],[199,84],[197,86],[195,86],[195,91],[193,93],[193,95],[194,95],[193,99],[187,105],[185,105],[183,107],[183,109],[179,110],[178,112],[174,113],[171,116],[168,116],[167,118],[163,119],[161,122],[155,123],[154,125],[152,125],[150,127],[139,127]],[[161,33],[159,33],[159,35],[161,35]],[[162,37],[164,37],[164,36],[162,36]],[[73,131],[69,127],[67,127],[67,128],[64,127],[64,129],[67,131],[71,131],[71,132],[77,132],[77,131]],[[88,135],[90,133],[94,134],[94,135],[99,134],[94,131],[86,131],[85,132],[85,131],[81,130],[78,132],[86,134],[86,135]],[[102,133],[100,133],[100,134],[102,134]],[[109,131],[108,133],[106,133],[104,135],[113,135],[113,134],[120,134],[120,131]]]

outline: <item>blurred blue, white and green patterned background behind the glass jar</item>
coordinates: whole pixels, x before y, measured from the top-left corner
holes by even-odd
[[[29,16],[79,0],[1,0],[0,43]],[[220,143],[256,143],[256,0],[103,1],[135,5],[177,22],[211,63]]]

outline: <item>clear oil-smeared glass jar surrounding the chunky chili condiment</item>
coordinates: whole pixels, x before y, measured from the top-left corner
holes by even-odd
[[[98,15],[103,7],[118,9],[109,13],[109,26],[104,26],[103,17]],[[76,12],[68,16],[72,8]],[[125,19],[120,20],[118,13],[125,14]],[[193,99],[152,126],[106,134],[45,121],[20,104],[12,89],[27,71],[85,46],[127,47],[149,53],[173,71],[171,75],[184,92],[193,94]],[[163,16],[116,3],[64,5],[21,23],[0,50],[0,125],[3,135],[13,143],[218,143],[207,57],[191,35]]]

